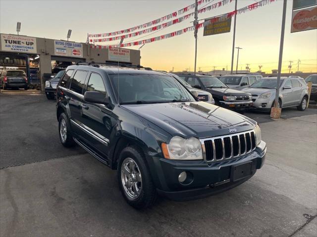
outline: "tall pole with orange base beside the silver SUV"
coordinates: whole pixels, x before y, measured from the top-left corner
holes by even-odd
[[[284,46],[284,34],[285,34],[285,18],[286,18],[286,5],[287,0],[283,1],[283,15],[282,15],[282,29],[281,29],[281,40],[279,45],[279,57],[278,57],[278,69],[277,69],[277,79],[276,79],[276,91],[275,91],[275,103],[274,109],[271,110],[271,118],[280,118],[281,110],[277,109],[279,106],[279,83],[281,80],[281,69],[282,69],[282,59],[283,59],[283,46]]]

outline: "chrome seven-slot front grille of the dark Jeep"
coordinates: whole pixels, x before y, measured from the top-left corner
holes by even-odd
[[[220,137],[200,139],[206,162],[236,158],[256,149],[253,130]]]

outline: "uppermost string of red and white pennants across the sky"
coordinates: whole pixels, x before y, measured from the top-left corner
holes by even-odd
[[[208,2],[211,2],[211,1],[212,0],[199,0],[197,3],[198,3],[198,5],[201,5],[203,3],[208,3]],[[221,0],[219,2],[213,3],[211,5],[211,7],[212,7],[212,9],[214,9],[216,7],[225,5],[225,4],[227,4],[228,2],[231,2],[231,1],[233,1],[233,0]],[[171,18],[176,17],[177,15],[184,14],[185,12],[188,12],[191,9],[195,9],[195,3],[193,3],[193,4],[189,5],[189,6],[186,6],[186,7],[182,8],[182,9],[180,9],[178,11],[172,12],[172,13],[166,15],[166,16],[162,16],[162,17],[160,17],[160,18],[158,18],[156,20],[153,20],[153,21],[150,21],[150,22],[147,22],[147,23],[135,26],[135,27],[131,27],[131,28],[128,28],[128,29],[125,29],[125,30],[121,30],[121,31],[110,32],[110,33],[88,34],[88,38],[89,39],[90,38],[105,38],[105,37],[109,37],[109,36],[116,36],[116,35],[121,35],[121,34],[132,33],[134,31],[137,31],[137,30],[140,30],[140,29],[143,29],[143,28],[148,28],[148,27],[151,27],[153,25],[157,25],[160,22],[163,22],[163,21],[166,21],[166,20],[169,20]]]

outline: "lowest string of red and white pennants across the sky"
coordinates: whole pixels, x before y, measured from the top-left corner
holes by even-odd
[[[265,6],[265,5],[267,5],[269,3],[272,3],[272,2],[275,2],[275,1],[276,0],[261,0],[259,2],[255,2],[255,3],[252,3],[252,4],[248,5],[248,6],[245,6],[245,7],[242,7],[240,9],[237,9],[236,11],[231,11],[231,12],[225,13],[225,14],[223,14],[221,16],[218,16],[218,17],[213,17],[213,18],[209,19],[208,21],[205,21],[203,23],[197,24],[196,26],[186,27],[186,28],[184,28],[182,30],[179,30],[179,31],[171,32],[171,33],[168,33],[168,34],[165,34],[165,35],[153,37],[153,38],[146,39],[146,40],[138,40],[138,41],[134,41],[134,42],[127,42],[127,43],[114,44],[114,45],[93,45],[93,44],[90,44],[90,47],[91,48],[98,48],[98,49],[106,49],[106,48],[112,48],[112,47],[121,47],[121,48],[123,48],[123,47],[142,45],[142,44],[145,44],[145,43],[152,43],[152,42],[159,41],[159,40],[165,40],[165,39],[169,39],[169,38],[172,38],[172,37],[175,37],[175,36],[180,36],[182,34],[190,32],[190,31],[194,31],[195,28],[197,28],[199,30],[202,27],[205,27],[205,26],[207,26],[209,24],[217,23],[219,21],[224,21],[224,20],[226,20],[228,18],[233,17],[236,14],[238,15],[238,14],[242,14],[242,13],[245,13],[245,12],[248,12],[248,11],[252,11],[252,10],[258,9],[259,7]]]

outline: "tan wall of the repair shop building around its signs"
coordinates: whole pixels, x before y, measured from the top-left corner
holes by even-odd
[[[12,35],[12,36],[18,37],[17,35]],[[66,40],[63,40],[63,41],[66,41]],[[83,61],[96,62],[96,63],[105,63],[106,61],[108,61],[108,49],[95,49],[95,48],[91,48],[90,45],[87,45],[86,43],[81,43],[81,44],[83,45],[83,52],[82,52],[83,57],[81,58],[83,59]],[[41,72],[41,82],[42,82],[41,87],[43,89],[45,85],[45,81],[43,81],[43,74],[52,73],[51,56],[55,55],[54,40],[45,39],[45,38],[36,38],[36,47],[37,47],[37,54],[40,55],[40,72]],[[2,45],[0,41],[0,50],[1,48],[2,48]],[[134,50],[134,49],[129,49],[129,50],[130,50],[130,63],[132,63],[133,65],[140,65],[140,51]],[[0,51],[0,53],[5,53],[5,52],[6,51]],[[25,52],[20,52],[20,53],[24,54]],[[60,55],[56,55],[56,56],[62,57]]]

